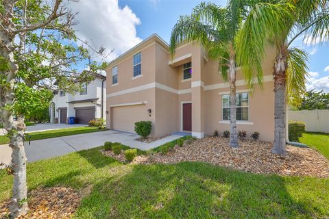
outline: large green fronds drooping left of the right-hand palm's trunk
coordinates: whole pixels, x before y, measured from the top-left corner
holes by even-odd
[[[262,62],[268,38],[284,43],[287,21],[292,20],[293,5],[289,3],[257,3],[250,10],[243,27],[237,36],[236,61],[242,67],[243,75],[249,87],[256,77],[263,83]]]

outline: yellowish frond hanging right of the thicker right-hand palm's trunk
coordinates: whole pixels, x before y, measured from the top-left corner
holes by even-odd
[[[297,48],[289,49],[288,53],[287,101],[291,105],[300,105],[302,96],[306,92],[308,55],[302,49]]]

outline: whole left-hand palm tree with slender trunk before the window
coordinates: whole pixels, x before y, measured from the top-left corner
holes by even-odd
[[[236,133],[236,41],[241,29],[241,14],[236,5],[221,8],[214,3],[200,3],[191,16],[180,16],[173,27],[170,51],[181,42],[197,42],[208,50],[208,56],[219,61],[223,79],[230,81],[230,146],[238,147]]]

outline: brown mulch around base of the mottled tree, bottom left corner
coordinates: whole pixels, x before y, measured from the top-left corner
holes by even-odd
[[[27,196],[29,212],[19,219],[71,218],[81,200],[81,196],[75,190],[65,187],[38,188],[29,192]],[[0,203],[0,218],[7,218],[9,205],[10,200]]]

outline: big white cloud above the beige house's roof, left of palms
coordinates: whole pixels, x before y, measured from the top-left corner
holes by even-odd
[[[72,2],[71,8],[78,12],[74,28],[79,38],[97,49],[104,47],[105,53],[114,49],[108,61],[141,42],[136,34],[140,19],[127,5],[120,8],[117,0]]]

